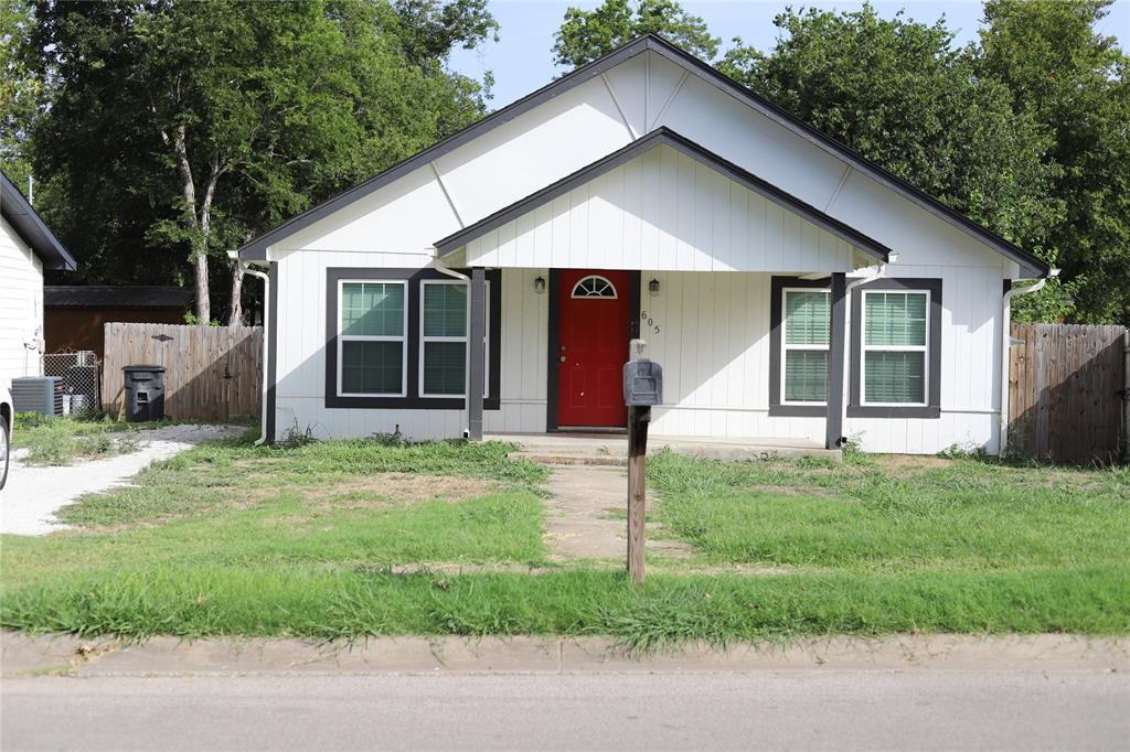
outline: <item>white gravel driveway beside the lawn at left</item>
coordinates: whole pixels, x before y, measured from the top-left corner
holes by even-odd
[[[8,484],[0,491],[0,533],[46,535],[67,526],[55,513],[85,493],[121,486],[155,460],[172,457],[197,444],[238,436],[238,426],[177,425],[144,430],[137,452],[64,466],[28,466],[12,453]]]

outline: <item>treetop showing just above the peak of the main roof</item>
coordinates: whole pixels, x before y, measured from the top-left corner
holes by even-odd
[[[649,33],[706,60],[718,54],[720,40],[711,36],[706,21],[685,11],[677,0],[605,0],[593,10],[565,11],[555,36],[554,62],[580,68]]]

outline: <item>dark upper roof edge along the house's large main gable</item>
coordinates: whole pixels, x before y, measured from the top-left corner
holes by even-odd
[[[857,151],[853,151],[849,147],[844,146],[840,141],[836,141],[832,137],[822,133],[808,123],[805,123],[798,119],[792,113],[773,104],[765,97],[760,96],[747,89],[742,85],[738,84],[733,79],[727,77],[719,70],[711,67],[709,63],[695,58],[694,55],[680,50],[670,42],[654,35],[647,34],[641,36],[624,46],[614,50],[603,58],[599,58],[588,65],[583,65],[572,73],[563,76],[562,78],[553,81],[551,84],[538,89],[537,91],[514,102],[513,104],[498,110],[497,112],[484,117],[469,125],[468,128],[454,133],[446,139],[440,141],[435,146],[420,151],[419,154],[409,157],[405,161],[401,161],[393,167],[384,170],[380,175],[370,178],[368,181],[349,189],[338,195],[329,199],[328,201],[313,207],[305,212],[294,217],[293,219],[284,222],[282,225],[276,227],[275,229],[260,235],[254,238],[242,248],[240,248],[240,256],[243,259],[251,260],[263,260],[267,257],[267,247],[272,243],[288,236],[294,233],[308,227],[310,225],[316,222],[318,220],[333,213],[338,209],[365,196],[377,189],[388,185],[398,177],[417,169],[418,167],[427,164],[433,159],[447,154],[452,149],[455,149],[463,143],[481,135],[483,133],[490,131],[504,123],[514,120],[521,114],[532,110],[533,107],[551,99],[555,96],[564,94],[570,89],[584,84],[600,76],[605,71],[619,65],[621,62],[629,60],[636,55],[643,54],[645,52],[654,52],[658,55],[669,60],[676,65],[683,68],[689,75],[696,76],[697,78],[706,81],[711,86],[733,96],[738,100],[748,105],[749,107],[756,110],[760,114],[765,115],[773,122],[777,123],[782,128],[789,130],[796,135],[809,141],[817,148],[828,151],[846,164],[851,165],[859,172],[868,175],[872,180],[883,184],[887,189],[898,193],[899,195],[912,201],[920,208],[930,212],[931,215],[938,217],[942,221],[956,227],[957,229],[973,236],[977,241],[989,245],[998,253],[1011,259],[1024,272],[1032,273],[1036,277],[1046,277],[1051,272],[1051,268],[1045,262],[1041,261],[1035,255],[1024,251],[1012,243],[1009,243],[1001,236],[997,235],[992,230],[979,225],[968,217],[965,217],[960,212],[947,207],[942,202],[938,201],[933,196],[929,195],[924,191],[914,187],[901,177],[887,172],[883,167],[879,167],[875,163],[870,161]]]

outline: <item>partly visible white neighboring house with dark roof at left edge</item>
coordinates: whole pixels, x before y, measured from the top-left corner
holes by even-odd
[[[44,269],[75,260],[0,173],[0,378],[41,375]]]

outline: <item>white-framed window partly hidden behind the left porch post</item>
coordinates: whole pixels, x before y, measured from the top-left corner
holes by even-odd
[[[489,386],[490,286],[484,305],[484,396]],[[425,280],[420,282],[420,396],[462,397],[467,385],[467,343],[470,296],[467,282]]]

